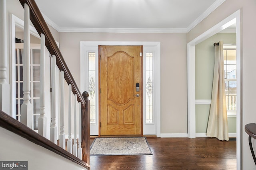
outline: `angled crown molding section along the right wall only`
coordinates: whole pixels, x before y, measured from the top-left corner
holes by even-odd
[[[218,8],[226,0],[216,0],[206,11],[204,11],[194,22],[192,22],[188,28],[187,32],[193,29],[198,23],[204,20],[208,15],[210,15],[216,8]]]

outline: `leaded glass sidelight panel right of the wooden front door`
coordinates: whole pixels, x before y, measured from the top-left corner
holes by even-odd
[[[153,53],[146,53],[146,123],[154,122],[153,111]]]

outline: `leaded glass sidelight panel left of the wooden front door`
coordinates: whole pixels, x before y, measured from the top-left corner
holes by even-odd
[[[89,82],[89,99],[90,99],[90,124],[96,124],[96,97],[95,97],[95,76],[96,76],[96,53],[89,52],[88,53],[89,59],[89,75],[88,75],[88,82]]]

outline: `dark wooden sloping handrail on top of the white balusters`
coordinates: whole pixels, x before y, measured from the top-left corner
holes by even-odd
[[[36,28],[38,34],[43,33],[45,35],[45,45],[51,55],[56,56],[56,64],[60,71],[64,71],[64,78],[68,84],[72,84],[73,94],[77,94],[77,101],[81,102],[82,108],[85,108],[85,101],[80,93],[80,90],[68,69],[66,62],[64,61],[60,49],[58,48],[50,29],[48,28],[44,17],[42,16],[36,2],[34,0],[19,0],[24,8],[24,4],[28,4],[30,8],[30,20]]]

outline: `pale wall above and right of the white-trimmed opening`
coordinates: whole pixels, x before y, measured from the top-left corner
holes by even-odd
[[[255,169],[252,154],[248,145],[248,135],[244,131],[244,126],[256,121],[255,98],[256,77],[255,72],[255,47],[256,47],[256,22],[252,19],[256,16],[255,0],[226,0],[206,19],[201,21],[187,36],[187,42],[190,42],[218,22],[224,20],[234,12],[240,9],[241,12],[241,75],[242,75],[242,99],[241,99],[241,135],[242,135],[242,169]],[[254,148],[256,147],[254,143]]]

